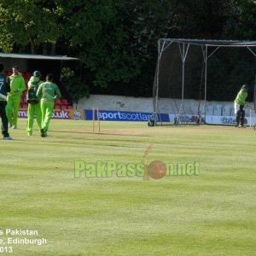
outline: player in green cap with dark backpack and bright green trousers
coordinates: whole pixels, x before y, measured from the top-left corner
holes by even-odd
[[[40,76],[41,76],[41,73],[38,70],[36,70],[33,73],[32,77],[29,79],[29,81],[27,83],[28,90],[30,90],[31,88],[34,88],[34,90],[33,90],[34,92],[38,91],[39,85],[43,83],[40,80]],[[29,95],[29,93],[27,93],[27,95],[26,95],[26,101],[27,101],[26,131],[27,131],[28,136],[32,136],[35,113],[36,113],[36,119],[37,119],[39,131],[41,131],[42,113],[41,113],[40,101],[38,100],[36,95],[34,95],[34,99],[30,99],[29,97],[30,97],[30,95]],[[33,100],[35,100],[35,99],[38,100],[38,103],[33,102]]]

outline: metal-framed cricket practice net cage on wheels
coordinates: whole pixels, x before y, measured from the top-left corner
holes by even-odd
[[[225,54],[229,49],[245,48],[255,60],[255,47],[256,42],[252,41],[160,38],[154,75],[154,113],[148,125],[163,125],[162,113],[169,114],[169,124],[188,124],[191,119],[195,124],[207,123],[207,114],[214,112],[207,104],[212,90],[207,88],[209,59],[220,49]],[[254,114],[255,93],[251,108]]]

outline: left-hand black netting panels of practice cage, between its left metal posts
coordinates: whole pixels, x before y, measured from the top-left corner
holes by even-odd
[[[154,109],[158,107],[160,113],[178,114],[181,111],[197,114],[205,97],[202,48],[188,44],[183,48],[183,44],[177,43],[165,46],[154,77]],[[195,108],[190,109],[185,102],[181,106],[182,98],[197,101]]]

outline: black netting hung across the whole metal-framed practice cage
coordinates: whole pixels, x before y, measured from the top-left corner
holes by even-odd
[[[172,114],[174,121],[180,116],[201,118],[207,112],[232,115],[233,107],[218,102],[233,102],[241,84],[253,84],[253,47],[256,42],[160,39],[154,112]],[[252,101],[254,92],[254,108],[255,90],[248,96]],[[211,101],[215,102],[211,105]]]

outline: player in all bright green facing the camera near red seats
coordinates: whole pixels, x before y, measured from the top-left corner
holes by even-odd
[[[19,67],[13,67],[13,74],[9,76],[10,92],[7,97],[6,113],[9,119],[9,127],[13,129],[17,128],[18,112],[20,107],[20,95],[23,90],[26,89],[25,80],[21,73],[19,73]]]

